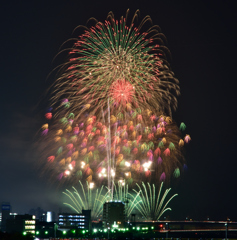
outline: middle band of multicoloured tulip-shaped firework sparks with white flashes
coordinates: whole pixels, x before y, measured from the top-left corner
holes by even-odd
[[[70,105],[63,101],[62,108]],[[66,107],[67,109],[70,107]],[[170,117],[155,115],[150,110],[132,109],[113,115],[103,112],[104,120],[85,112],[81,118],[62,115],[58,122],[42,126],[48,163],[47,168],[58,179],[85,179],[105,184],[125,179],[131,184],[139,181],[164,181],[172,174],[179,177],[184,158],[182,147],[189,141]],[[183,123],[181,124],[182,129]]]

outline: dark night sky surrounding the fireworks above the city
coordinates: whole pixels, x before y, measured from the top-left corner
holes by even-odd
[[[0,202],[13,211],[58,210],[62,189],[36,168],[33,149],[43,122],[46,77],[60,45],[90,17],[140,9],[161,27],[180,80],[174,119],[192,141],[188,171],[172,192],[171,219],[237,221],[236,7],[235,1],[4,1],[0,8]]]

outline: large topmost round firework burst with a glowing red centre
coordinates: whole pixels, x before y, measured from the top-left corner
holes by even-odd
[[[84,27],[60,66],[53,103],[67,98],[77,116],[89,108],[97,117],[108,100],[119,111],[128,103],[169,115],[176,109],[178,80],[167,61],[165,37],[149,16],[136,25],[139,11],[131,21],[128,12],[120,20],[110,12],[104,23],[93,18]]]

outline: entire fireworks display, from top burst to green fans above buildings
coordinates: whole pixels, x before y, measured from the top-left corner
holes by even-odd
[[[110,12],[105,22],[84,27],[57,68],[42,126],[45,169],[61,183],[79,181],[81,193],[66,190],[65,204],[91,209],[92,218],[105,201],[130,199],[127,216],[136,207],[158,220],[176,196],[165,202],[170,189],[161,197],[163,182],[186,168],[183,146],[191,138],[172,120],[180,92],[165,37],[149,16],[140,24],[137,18],[138,11],[131,20],[128,11],[120,20]]]

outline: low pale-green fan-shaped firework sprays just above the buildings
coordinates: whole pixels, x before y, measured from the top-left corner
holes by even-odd
[[[104,185],[101,188],[94,189],[89,183],[84,188],[81,181],[79,181],[80,190],[75,187],[73,192],[66,189],[63,192],[68,199],[68,202],[64,204],[69,206],[74,212],[81,213],[82,209],[91,210],[91,217],[96,220],[101,217],[103,211],[103,204],[108,201],[121,201],[125,202],[125,215],[129,219],[133,210],[137,210],[145,220],[157,221],[171,208],[167,207],[170,201],[178,194],[172,195],[166,200],[167,195],[171,191],[171,188],[166,189],[162,195],[163,182],[160,184],[159,191],[156,192],[156,186],[152,186],[147,183],[147,186],[142,182],[142,187],[137,184],[137,189],[129,191],[128,185],[123,181],[119,181],[118,184],[113,182],[114,194],[111,198],[110,189]]]

